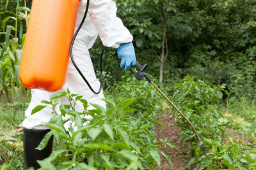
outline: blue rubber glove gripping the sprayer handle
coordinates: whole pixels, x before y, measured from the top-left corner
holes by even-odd
[[[125,71],[129,71],[131,66],[136,65],[136,57],[134,47],[131,43],[123,43],[117,48],[118,58],[121,59],[120,67]]]

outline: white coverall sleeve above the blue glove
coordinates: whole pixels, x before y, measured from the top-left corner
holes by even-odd
[[[86,4],[83,6],[85,9]],[[116,17],[116,10],[116,4],[112,0],[90,0],[88,10],[103,45],[113,48],[118,48],[121,43],[129,43],[133,39],[122,20]]]

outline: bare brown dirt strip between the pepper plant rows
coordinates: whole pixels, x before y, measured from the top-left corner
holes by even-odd
[[[189,149],[184,148],[182,150],[176,151],[170,148],[170,146],[161,146],[161,141],[159,139],[163,138],[174,138],[171,140],[173,145],[177,146],[177,148],[181,148],[180,146],[180,141],[178,135],[182,131],[179,127],[173,125],[175,124],[175,120],[172,117],[159,117],[157,118],[159,122],[163,125],[164,129],[161,128],[159,125],[155,125],[156,127],[156,133],[157,133],[157,140],[158,140],[158,145],[160,146],[161,150],[165,150],[168,152],[172,158],[172,164],[173,167],[171,167],[167,160],[164,159],[163,155],[161,155],[161,167],[165,169],[186,169],[185,167],[188,167],[188,159],[185,157],[190,157]]]

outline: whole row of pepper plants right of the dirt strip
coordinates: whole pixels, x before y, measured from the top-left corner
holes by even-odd
[[[196,141],[196,136],[189,124],[180,115],[182,127],[179,134],[182,141],[189,141],[192,157],[189,164],[200,164],[200,169],[253,169],[256,153],[253,145],[243,145],[241,141],[230,139],[224,143],[222,136],[225,125],[220,122],[218,106],[225,85],[211,86],[204,81],[194,81],[196,77],[187,76],[184,82],[175,85],[173,99],[179,103],[180,110],[185,113],[191,123],[195,125],[202,141]]]

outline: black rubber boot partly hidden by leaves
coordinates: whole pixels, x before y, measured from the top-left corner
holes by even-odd
[[[44,150],[35,149],[49,131],[51,130],[31,130],[24,128],[24,157],[27,168],[34,167],[38,169],[40,166],[36,160],[43,160],[51,155],[53,136],[49,139],[48,145]]]

